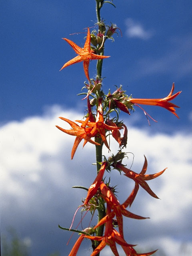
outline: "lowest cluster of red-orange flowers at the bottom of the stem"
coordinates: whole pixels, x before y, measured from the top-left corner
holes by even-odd
[[[77,242],[74,244],[74,247],[72,248],[72,251],[70,252],[69,256],[76,255],[80,247],[80,243],[84,238],[100,241],[100,244],[95,248],[95,250],[92,252],[90,256],[96,256],[106,245],[110,246],[115,256],[119,256],[116,248],[116,243],[122,246],[122,249],[124,250],[126,256],[139,256],[139,255],[149,256],[154,252],[156,252],[156,250],[152,252],[138,254],[136,250],[134,250],[133,248],[135,245],[128,244],[124,240],[123,216],[126,216],[128,218],[138,219],[138,220],[146,219],[146,217],[142,217],[132,212],[129,212],[128,210],[126,210],[126,208],[130,206],[133,200],[135,199],[136,194],[138,192],[139,185],[142,186],[151,196],[158,198],[154,194],[154,192],[152,192],[152,190],[150,189],[150,187],[148,186],[145,180],[151,180],[160,176],[166,170],[166,168],[162,172],[158,172],[156,174],[145,174],[147,169],[146,157],[145,157],[144,166],[140,174],[137,174],[136,172],[133,172],[128,168],[125,168],[121,163],[116,163],[116,164],[113,163],[112,166],[116,166],[115,168],[117,170],[122,170],[123,172],[125,172],[126,173],[125,175],[128,178],[133,179],[136,184],[134,190],[131,192],[127,200],[123,204],[120,204],[120,202],[114,195],[114,192],[112,192],[112,189],[102,181],[104,172],[106,168],[108,168],[108,166],[109,166],[109,162],[107,161],[102,162],[100,171],[98,172],[98,175],[94,180],[93,184],[90,186],[86,200],[84,201],[84,205],[86,205],[89,203],[90,199],[94,196],[101,196],[105,200],[107,204],[106,216],[102,218],[98,222],[98,224],[93,228],[93,230],[96,230],[96,228],[105,224],[104,236],[90,236],[90,235],[81,234],[80,238],[78,238]],[[117,220],[116,222],[118,224],[119,232],[113,227],[113,221],[115,216],[116,216],[116,220]]]

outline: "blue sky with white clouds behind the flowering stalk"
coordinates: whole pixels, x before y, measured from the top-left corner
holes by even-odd
[[[180,119],[150,106],[145,110],[158,120],[150,121],[150,127],[139,108],[131,116],[122,115],[129,126],[127,150],[135,154],[133,168],[142,168],[145,154],[151,173],[165,167],[170,170],[154,185],[151,183],[161,200],[156,202],[144,192],[138,195],[144,201],[138,199],[133,211],[146,212],[151,219],[149,224],[128,223],[127,235],[130,242],[141,247],[147,238],[152,241],[148,248],[154,248],[154,244],[163,244],[167,250],[178,246],[177,251],[182,244],[192,247],[188,213],[192,206],[192,2],[114,0],[114,4],[116,8],[105,4],[101,16],[108,24],[116,23],[123,36],[115,35],[115,42],[106,42],[105,55],[111,57],[103,64],[104,92],[122,84],[134,98],[163,98],[173,82],[175,92],[182,90],[174,100],[180,106],[176,109]],[[94,172],[91,163],[95,160],[93,146],[86,145],[71,161],[68,143],[72,144],[74,138],[54,128],[56,124],[64,126],[58,116],[82,118],[86,105],[81,96],[76,96],[85,81],[82,63],[59,72],[76,56],[61,38],[83,47],[84,28],[96,23],[94,0],[6,0],[0,2],[0,16],[2,232],[14,226],[23,239],[31,241],[32,256],[56,250],[66,255],[76,236],[66,246],[68,234],[57,225],[69,226],[85,196],[71,186],[92,183],[90,168]],[[70,35],[73,33],[78,34]],[[90,63],[89,72],[90,77],[96,75],[96,61]],[[117,150],[115,142],[112,148]],[[89,156],[90,167],[85,170],[80,164],[77,171],[76,165],[86,161],[89,152],[93,154],[92,159]],[[128,234],[130,226],[132,237]],[[134,226],[138,232],[133,231]],[[170,251],[168,255],[175,253]],[[82,246],[79,255],[89,255],[89,250]]]

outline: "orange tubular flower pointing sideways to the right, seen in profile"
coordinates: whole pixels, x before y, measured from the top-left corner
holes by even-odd
[[[154,106],[160,106],[163,108],[166,108],[167,110],[169,110],[170,112],[172,112],[177,118],[178,115],[176,114],[176,110],[175,108],[180,108],[179,106],[176,106],[173,103],[170,103],[171,100],[173,100],[174,98],[176,98],[176,96],[178,96],[180,92],[177,92],[176,94],[172,95],[174,91],[174,83],[172,84],[172,89],[170,91],[170,94],[162,99],[134,99],[134,98],[130,98],[130,102],[133,104],[144,104],[144,105],[154,105]]]

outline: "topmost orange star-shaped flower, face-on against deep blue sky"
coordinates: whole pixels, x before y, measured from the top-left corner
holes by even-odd
[[[84,72],[85,72],[86,78],[90,82],[89,71],[88,71],[90,60],[99,60],[99,59],[109,58],[110,56],[102,56],[102,55],[97,55],[97,54],[93,53],[94,51],[91,50],[91,48],[90,48],[91,37],[90,37],[89,28],[87,30],[87,38],[86,38],[86,41],[84,44],[84,48],[79,47],[77,44],[75,44],[74,42],[72,42],[71,40],[69,40],[67,38],[62,38],[62,39],[66,40],[68,42],[68,44],[70,44],[70,46],[78,54],[78,56],[76,56],[72,60],[69,60],[68,62],[66,62],[60,70],[62,70],[63,68],[66,68],[67,66],[70,66],[74,63],[83,61]]]

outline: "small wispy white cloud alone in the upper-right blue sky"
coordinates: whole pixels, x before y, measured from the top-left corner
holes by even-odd
[[[139,22],[135,22],[132,18],[126,19],[126,35],[130,38],[136,37],[143,40],[150,39],[154,32],[152,30],[145,30]]]

